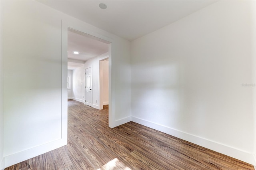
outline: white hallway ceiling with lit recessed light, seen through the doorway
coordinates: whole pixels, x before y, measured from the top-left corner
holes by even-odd
[[[88,59],[108,52],[108,44],[90,37],[75,30],[68,30],[68,69],[82,67]],[[74,54],[73,51],[78,51],[79,54]]]

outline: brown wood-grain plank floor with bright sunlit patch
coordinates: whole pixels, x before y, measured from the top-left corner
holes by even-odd
[[[6,170],[254,170],[253,166],[137,123],[108,127],[108,107],[68,101],[68,145]]]

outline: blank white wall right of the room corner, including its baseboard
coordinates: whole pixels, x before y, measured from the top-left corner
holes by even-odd
[[[254,3],[219,1],[132,41],[132,121],[255,164]]]

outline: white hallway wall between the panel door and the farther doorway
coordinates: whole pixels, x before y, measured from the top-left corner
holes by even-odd
[[[92,67],[92,107],[100,109],[100,89],[99,89],[99,79],[100,79],[100,60],[107,58],[108,53],[104,53],[92,59],[88,59],[85,62],[84,68],[87,69]]]

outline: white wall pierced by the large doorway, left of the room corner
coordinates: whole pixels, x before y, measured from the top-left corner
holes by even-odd
[[[58,140],[66,135],[65,128],[61,128],[67,125],[67,56],[64,51],[67,47],[62,43],[67,42],[65,26],[113,40],[111,84],[116,91],[112,91],[112,127],[129,121],[129,41],[36,1],[0,3],[0,29],[4,32],[1,57],[4,59],[5,166],[66,144]],[[123,103],[128,105],[125,111],[122,111]]]

